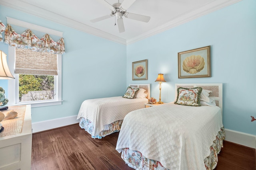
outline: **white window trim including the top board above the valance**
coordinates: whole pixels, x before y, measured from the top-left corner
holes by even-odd
[[[18,25],[20,27],[24,28],[29,28],[33,29],[36,31],[41,31],[41,32],[46,32],[50,35],[57,35],[59,37],[63,36],[63,33],[60,31],[56,31],[54,29],[50,29],[47,27],[42,27],[40,25],[35,25],[32,23],[28,23],[25,21],[21,20],[16,20],[14,18],[6,17],[7,18],[7,23],[13,24],[13,25]],[[17,104],[16,102],[16,92],[18,92],[18,82],[16,79],[14,80],[8,80],[8,105],[21,105],[21,104],[31,104],[31,107],[42,107],[42,106],[53,106],[53,105],[60,105],[62,104],[62,55],[57,55],[57,63],[58,63],[58,81],[54,82],[56,83],[56,89],[55,91],[57,92],[57,95],[55,96],[55,99],[52,101],[44,101],[44,102],[24,102]],[[9,46],[8,49],[8,66],[9,70],[12,73],[14,77],[16,77],[16,74],[14,74],[14,65],[15,65],[15,47]]]

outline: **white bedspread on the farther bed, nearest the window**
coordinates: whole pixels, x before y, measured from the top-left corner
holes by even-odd
[[[104,130],[104,125],[123,120],[130,111],[144,108],[147,98],[127,99],[122,96],[85,100],[79,110],[77,119],[84,117],[92,121],[94,129],[92,136],[97,136]]]

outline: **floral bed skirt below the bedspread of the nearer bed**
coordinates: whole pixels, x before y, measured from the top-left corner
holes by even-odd
[[[204,159],[206,170],[213,170],[217,166],[218,154],[220,153],[220,149],[223,147],[224,139],[225,130],[224,127],[222,127],[210,147],[210,156]],[[164,168],[160,162],[148,159],[140,152],[130,150],[128,148],[122,149],[121,157],[128,166],[136,170],[168,170],[167,168]]]

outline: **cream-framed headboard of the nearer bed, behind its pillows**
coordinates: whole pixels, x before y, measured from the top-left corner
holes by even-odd
[[[176,96],[179,87],[194,88],[201,87],[205,90],[212,90],[211,98],[215,99],[216,106],[219,106],[222,113],[222,83],[190,83],[190,84],[175,84]],[[175,98],[176,99],[176,98]]]

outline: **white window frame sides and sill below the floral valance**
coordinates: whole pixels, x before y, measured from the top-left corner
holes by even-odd
[[[46,100],[46,101],[36,101],[36,102],[19,102],[19,82],[18,82],[18,74],[14,74],[14,66],[15,66],[15,47],[9,46],[8,48],[8,65],[10,72],[14,75],[14,80],[11,80],[8,83],[8,99],[9,105],[24,105],[30,104],[31,107],[43,107],[43,106],[54,106],[62,104],[62,55],[57,55],[57,64],[58,64],[58,75],[54,78],[54,90],[56,96],[54,100]]]

